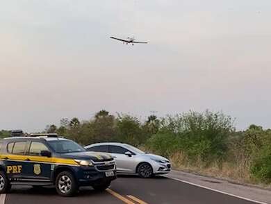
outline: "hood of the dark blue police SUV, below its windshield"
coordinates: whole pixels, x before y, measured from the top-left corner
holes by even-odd
[[[113,160],[113,157],[108,153],[98,153],[92,151],[75,152],[75,153],[63,153],[63,158],[69,158],[74,160],[92,160],[94,162],[103,162]]]

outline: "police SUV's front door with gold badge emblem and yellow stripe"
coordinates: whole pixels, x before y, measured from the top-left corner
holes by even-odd
[[[26,177],[29,180],[46,182],[51,179],[51,158],[42,156],[41,151],[49,151],[46,144],[40,141],[29,141],[26,151]]]

